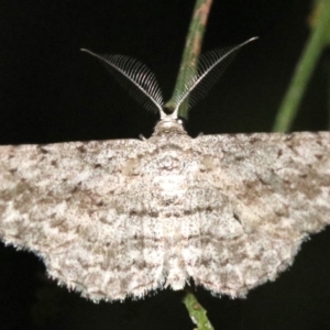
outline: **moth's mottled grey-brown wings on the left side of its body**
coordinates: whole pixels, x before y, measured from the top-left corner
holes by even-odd
[[[95,300],[158,287],[143,226],[117,206],[125,170],[152,148],[138,140],[0,146],[0,238],[36,252],[51,276]]]

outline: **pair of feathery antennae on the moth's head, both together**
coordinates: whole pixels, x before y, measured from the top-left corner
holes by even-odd
[[[187,97],[189,97],[189,107],[202,99],[224,73],[238,52],[256,38],[252,37],[242,44],[201,55],[197,75],[186,84],[184,92],[175,97],[175,110],[170,117],[177,118],[178,108]],[[98,55],[85,48],[81,51],[97,57],[119,84],[128,89],[130,95],[146,109],[158,110],[161,119],[167,117],[163,110],[162,90],[155,75],[147,66],[124,55]]]

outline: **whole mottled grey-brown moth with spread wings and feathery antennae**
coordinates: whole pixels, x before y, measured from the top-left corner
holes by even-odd
[[[274,280],[330,223],[330,133],[191,139],[177,118],[251,41],[201,56],[170,114],[143,64],[85,50],[161,120],[147,140],[0,146],[4,243],[35,252],[51,277],[95,301],[190,280],[244,297]]]

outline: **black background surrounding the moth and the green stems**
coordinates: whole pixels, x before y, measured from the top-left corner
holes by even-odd
[[[125,54],[148,65],[165,99],[175,84],[194,1],[0,1],[0,143],[148,136],[158,119],[98,61],[79,52]],[[196,135],[271,131],[308,36],[307,0],[215,0],[204,50],[252,36],[190,114]],[[294,130],[326,130],[323,54]],[[265,219],[266,221],[266,219]],[[295,264],[248,299],[197,290],[216,329],[330,329],[330,231],[304,243]],[[0,329],[193,329],[182,294],[95,305],[47,279],[38,258],[0,250]]]

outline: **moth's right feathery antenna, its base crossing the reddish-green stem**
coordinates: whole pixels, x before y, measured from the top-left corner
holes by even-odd
[[[173,116],[176,117],[179,106],[189,97],[189,108],[201,100],[207,92],[216,85],[221,75],[238,55],[238,52],[246,44],[255,41],[257,36],[229,47],[223,47],[216,51],[202,54],[198,62],[196,76],[186,84],[182,94],[175,98],[175,110]],[[207,78],[207,79],[206,79]]]

